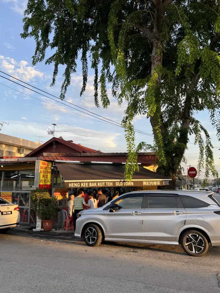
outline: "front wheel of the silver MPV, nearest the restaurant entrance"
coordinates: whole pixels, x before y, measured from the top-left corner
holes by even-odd
[[[88,224],[84,228],[83,238],[88,246],[97,246],[102,241],[101,230],[95,224]]]

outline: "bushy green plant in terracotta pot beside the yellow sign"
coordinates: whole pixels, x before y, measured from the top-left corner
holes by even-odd
[[[57,215],[57,199],[51,198],[46,190],[36,188],[31,192],[31,202],[38,218],[42,220],[43,229],[50,231]]]

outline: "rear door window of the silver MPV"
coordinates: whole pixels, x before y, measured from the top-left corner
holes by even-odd
[[[177,209],[176,197],[149,196],[148,209]]]

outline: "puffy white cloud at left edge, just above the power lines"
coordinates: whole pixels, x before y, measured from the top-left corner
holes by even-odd
[[[28,66],[28,62],[24,60],[17,62],[13,58],[4,57],[3,55],[0,55],[0,67],[10,75],[24,81],[30,81],[35,77],[43,77],[43,72]]]

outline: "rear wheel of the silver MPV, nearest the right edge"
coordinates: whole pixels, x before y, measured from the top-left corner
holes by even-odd
[[[181,245],[185,252],[192,256],[202,256],[209,249],[206,237],[196,230],[186,231],[182,235]]]

